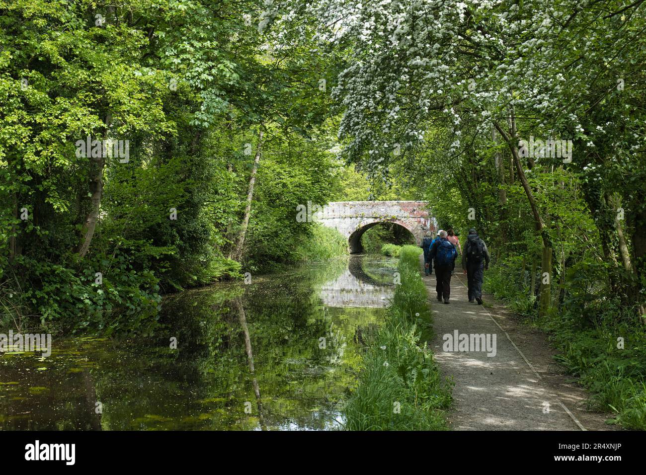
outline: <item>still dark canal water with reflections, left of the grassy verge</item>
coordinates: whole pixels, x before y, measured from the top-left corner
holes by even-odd
[[[340,429],[396,265],[355,255],[183,291],[153,337],[0,354],[0,428]]]

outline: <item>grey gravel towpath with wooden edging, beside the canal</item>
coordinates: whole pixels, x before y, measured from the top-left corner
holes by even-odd
[[[423,269],[423,261],[422,261]],[[552,359],[545,334],[483,295],[485,306],[469,303],[466,275],[451,280],[450,304],[435,297],[435,274],[426,277],[435,337],[430,341],[444,375],[452,375],[453,430],[612,430],[609,414],[585,410],[587,394]],[[443,336],[495,335],[495,355],[486,351],[447,352]],[[569,412],[569,413],[568,413]]]

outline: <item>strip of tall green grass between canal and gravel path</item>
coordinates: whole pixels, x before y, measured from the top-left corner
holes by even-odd
[[[345,408],[348,430],[444,430],[451,386],[426,341],[432,336],[426,288],[415,246],[403,246],[401,285],[386,320],[368,335],[359,385]],[[423,342],[423,343],[422,343]]]

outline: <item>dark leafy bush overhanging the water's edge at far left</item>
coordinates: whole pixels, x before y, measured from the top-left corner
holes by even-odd
[[[89,330],[105,335],[116,331],[151,334],[157,326],[161,302],[159,279],[154,273],[137,271],[120,253],[110,261],[99,257],[84,264],[76,270],[18,257],[16,266],[24,269],[20,279],[39,285],[21,285],[22,291],[9,291],[12,281],[6,280],[0,320],[14,325],[20,322],[23,331],[36,328],[39,318],[39,328],[48,333]],[[96,269],[101,269],[100,284]],[[26,309],[29,313],[23,313]]]

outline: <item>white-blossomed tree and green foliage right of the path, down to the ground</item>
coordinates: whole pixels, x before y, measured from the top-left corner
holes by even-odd
[[[574,0],[341,4],[353,11],[344,25],[353,61],[335,89],[348,162],[417,191],[440,227],[463,237],[475,227],[494,260],[485,287],[549,324],[601,408],[643,428],[643,410],[632,409],[643,372],[630,363],[643,366],[643,355],[604,350],[624,333],[646,346],[643,5],[609,1],[599,14]],[[521,146],[536,139],[545,149]],[[569,153],[552,153],[550,139]]]

